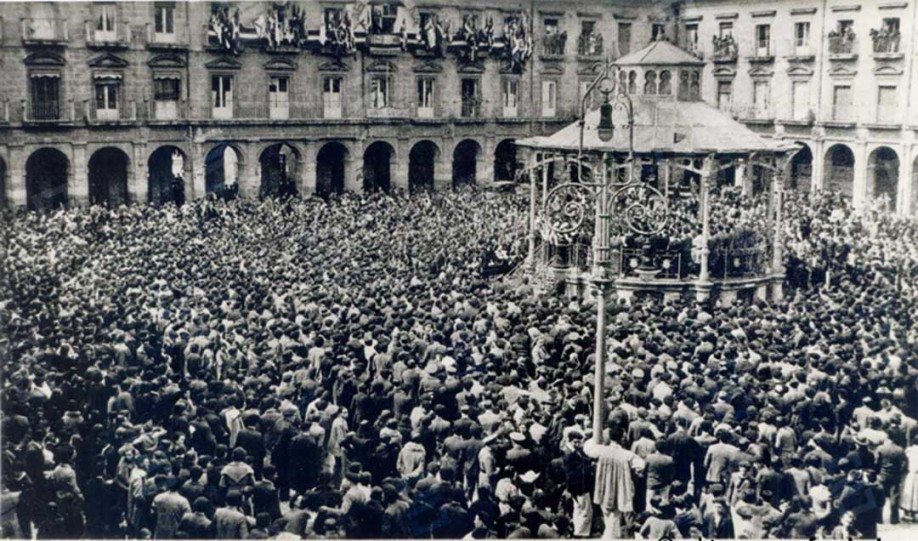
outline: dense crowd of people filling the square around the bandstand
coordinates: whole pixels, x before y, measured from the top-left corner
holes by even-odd
[[[791,204],[832,286],[614,304],[599,434],[592,301],[482,272],[515,195],[6,216],[2,535],[876,537],[918,513],[918,226]]]

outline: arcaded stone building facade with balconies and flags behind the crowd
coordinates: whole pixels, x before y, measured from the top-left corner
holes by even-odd
[[[914,0],[3,3],[0,205],[506,180],[514,140],[576,119],[597,61],[668,39],[704,61],[706,101],[805,145],[797,188],[913,214],[916,16]]]

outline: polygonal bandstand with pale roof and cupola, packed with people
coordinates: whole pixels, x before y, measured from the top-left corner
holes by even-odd
[[[626,299],[782,295],[782,196],[798,146],[702,101],[702,67],[653,42],[593,67],[580,121],[518,141],[537,282]]]

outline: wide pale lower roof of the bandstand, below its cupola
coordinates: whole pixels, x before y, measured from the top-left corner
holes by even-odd
[[[780,152],[786,145],[766,139],[730,116],[696,101],[662,100],[658,96],[633,96],[634,152],[636,154],[750,154]],[[616,110],[613,115],[615,134],[608,142],[599,138],[599,110],[586,115],[583,135],[585,153],[629,150],[627,117]],[[529,137],[518,146],[534,149],[576,151],[580,126],[574,122],[553,135]]]

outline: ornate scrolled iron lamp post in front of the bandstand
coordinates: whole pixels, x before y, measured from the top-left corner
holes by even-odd
[[[570,235],[582,228],[589,212],[590,198],[593,198],[595,213],[593,228],[593,264],[590,270],[590,281],[596,291],[596,349],[594,352],[594,385],[593,385],[593,439],[602,443],[605,401],[606,369],[606,297],[614,282],[606,272],[609,254],[612,250],[610,239],[610,218],[615,215],[618,223],[629,231],[639,235],[653,235],[666,227],[668,217],[659,215],[657,210],[665,208],[665,198],[653,188],[633,178],[634,163],[634,104],[624,89],[616,92],[617,68],[610,60],[599,65],[596,79],[587,87],[580,103],[580,141],[577,148],[577,180],[556,186],[545,199],[543,216],[546,226],[553,235]],[[586,129],[586,104],[590,95],[599,89],[603,94],[600,107],[600,122],[597,133],[602,142],[609,142],[615,133],[612,113],[621,109],[627,114],[628,153],[625,164],[620,167],[628,169],[624,183],[615,182],[607,160],[602,159],[601,179],[593,182],[583,181],[584,133]],[[613,98],[610,100],[610,95]],[[611,151],[603,151],[605,156]]]

